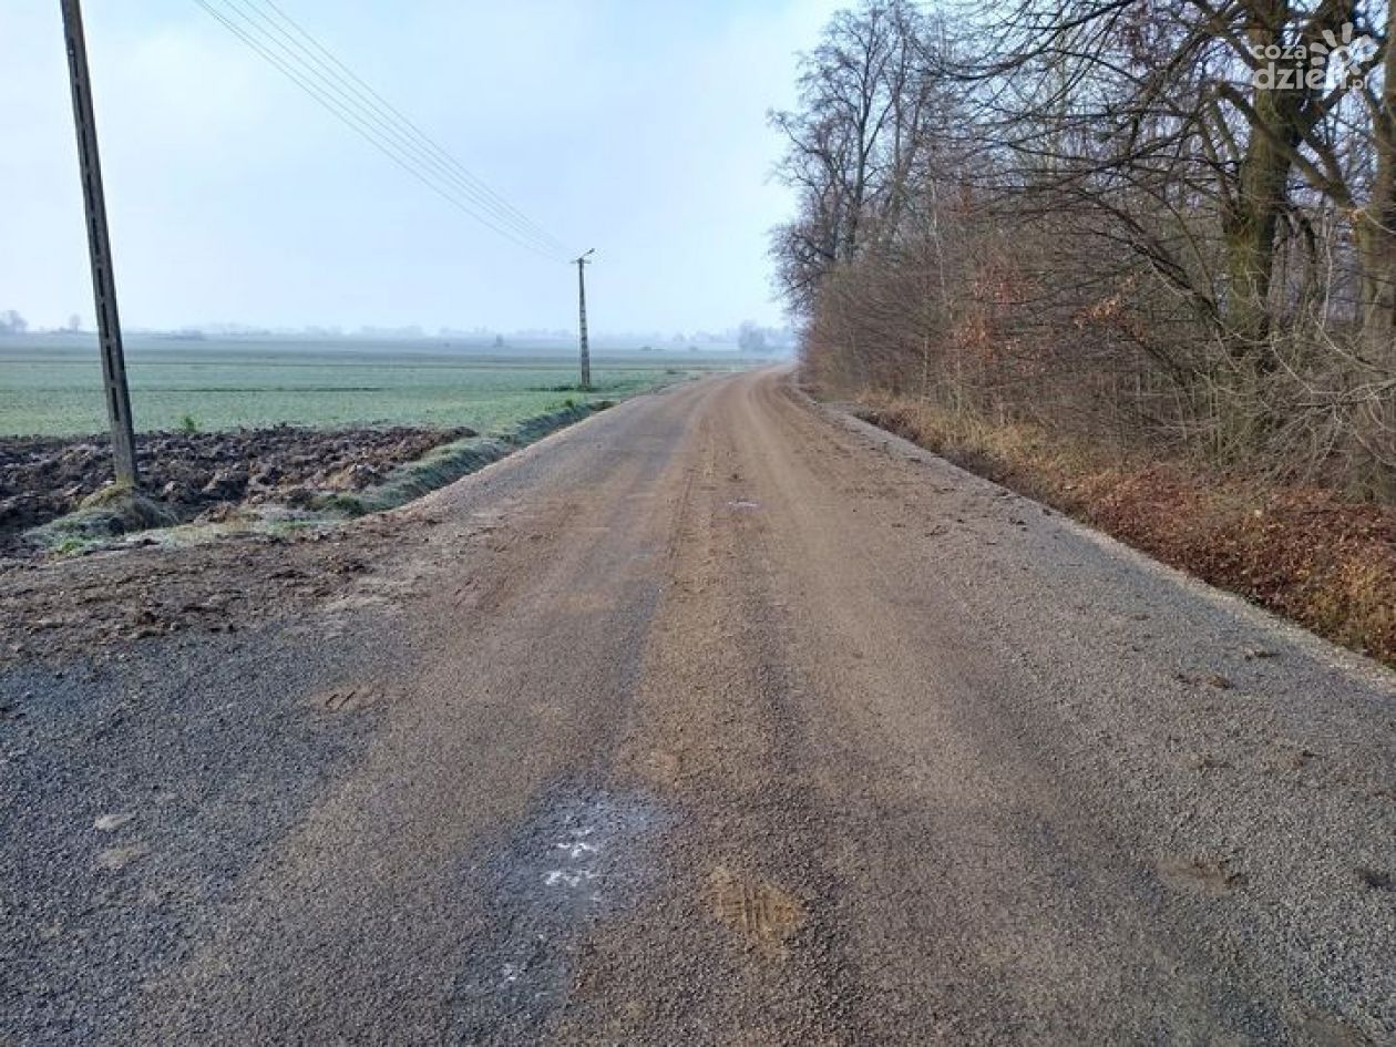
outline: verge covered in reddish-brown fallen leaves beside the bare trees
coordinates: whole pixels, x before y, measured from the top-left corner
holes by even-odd
[[[863,406],[868,422],[956,465],[1396,667],[1396,507],[914,401]]]

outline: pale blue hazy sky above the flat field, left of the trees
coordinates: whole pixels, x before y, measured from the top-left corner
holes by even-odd
[[[209,0],[237,3],[239,0]],[[769,173],[836,0],[276,0],[575,253],[593,325],[778,322]],[[575,269],[475,223],[194,0],[87,0],[123,320],[575,324]],[[59,4],[0,1],[0,310],[92,322]]]

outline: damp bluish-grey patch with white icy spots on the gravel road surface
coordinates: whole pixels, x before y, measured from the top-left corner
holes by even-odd
[[[652,885],[649,847],[673,818],[655,800],[575,785],[546,792],[476,870],[487,933],[463,959],[454,1039],[533,1041],[567,1001],[585,933]]]

